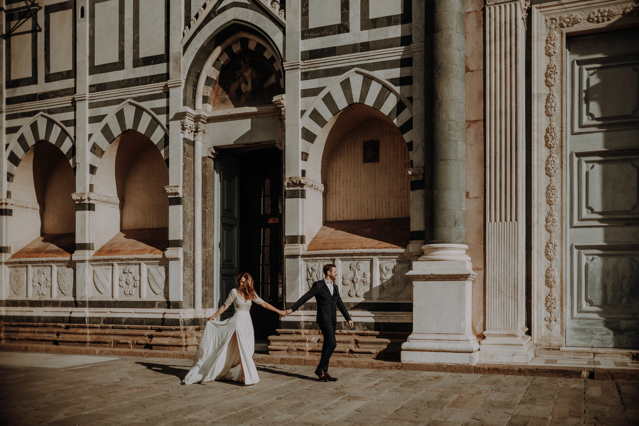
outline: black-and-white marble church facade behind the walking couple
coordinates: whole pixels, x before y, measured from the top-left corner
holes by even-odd
[[[636,52],[579,44],[631,40],[635,3],[5,3],[3,342],[193,349],[246,264],[237,159],[270,149],[269,300],[336,264],[336,354],[637,349],[638,106],[601,89]],[[270,353],[318,352],[313,309]]]

